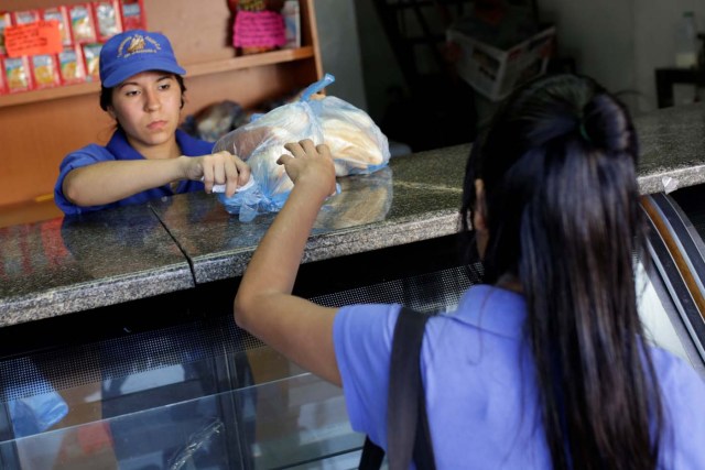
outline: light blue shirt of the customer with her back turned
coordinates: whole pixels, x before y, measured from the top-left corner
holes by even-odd
[[[387,448],[389,361],[399,305],[343,307],[336,359],[352,429]],[[457,311],[426,324],[421,351],[429,426],[440,469],[550,469],[521,295],[470,287]],[[665,416],[663,469],[705,469],[705,382],[685,361],[652,349]]]

